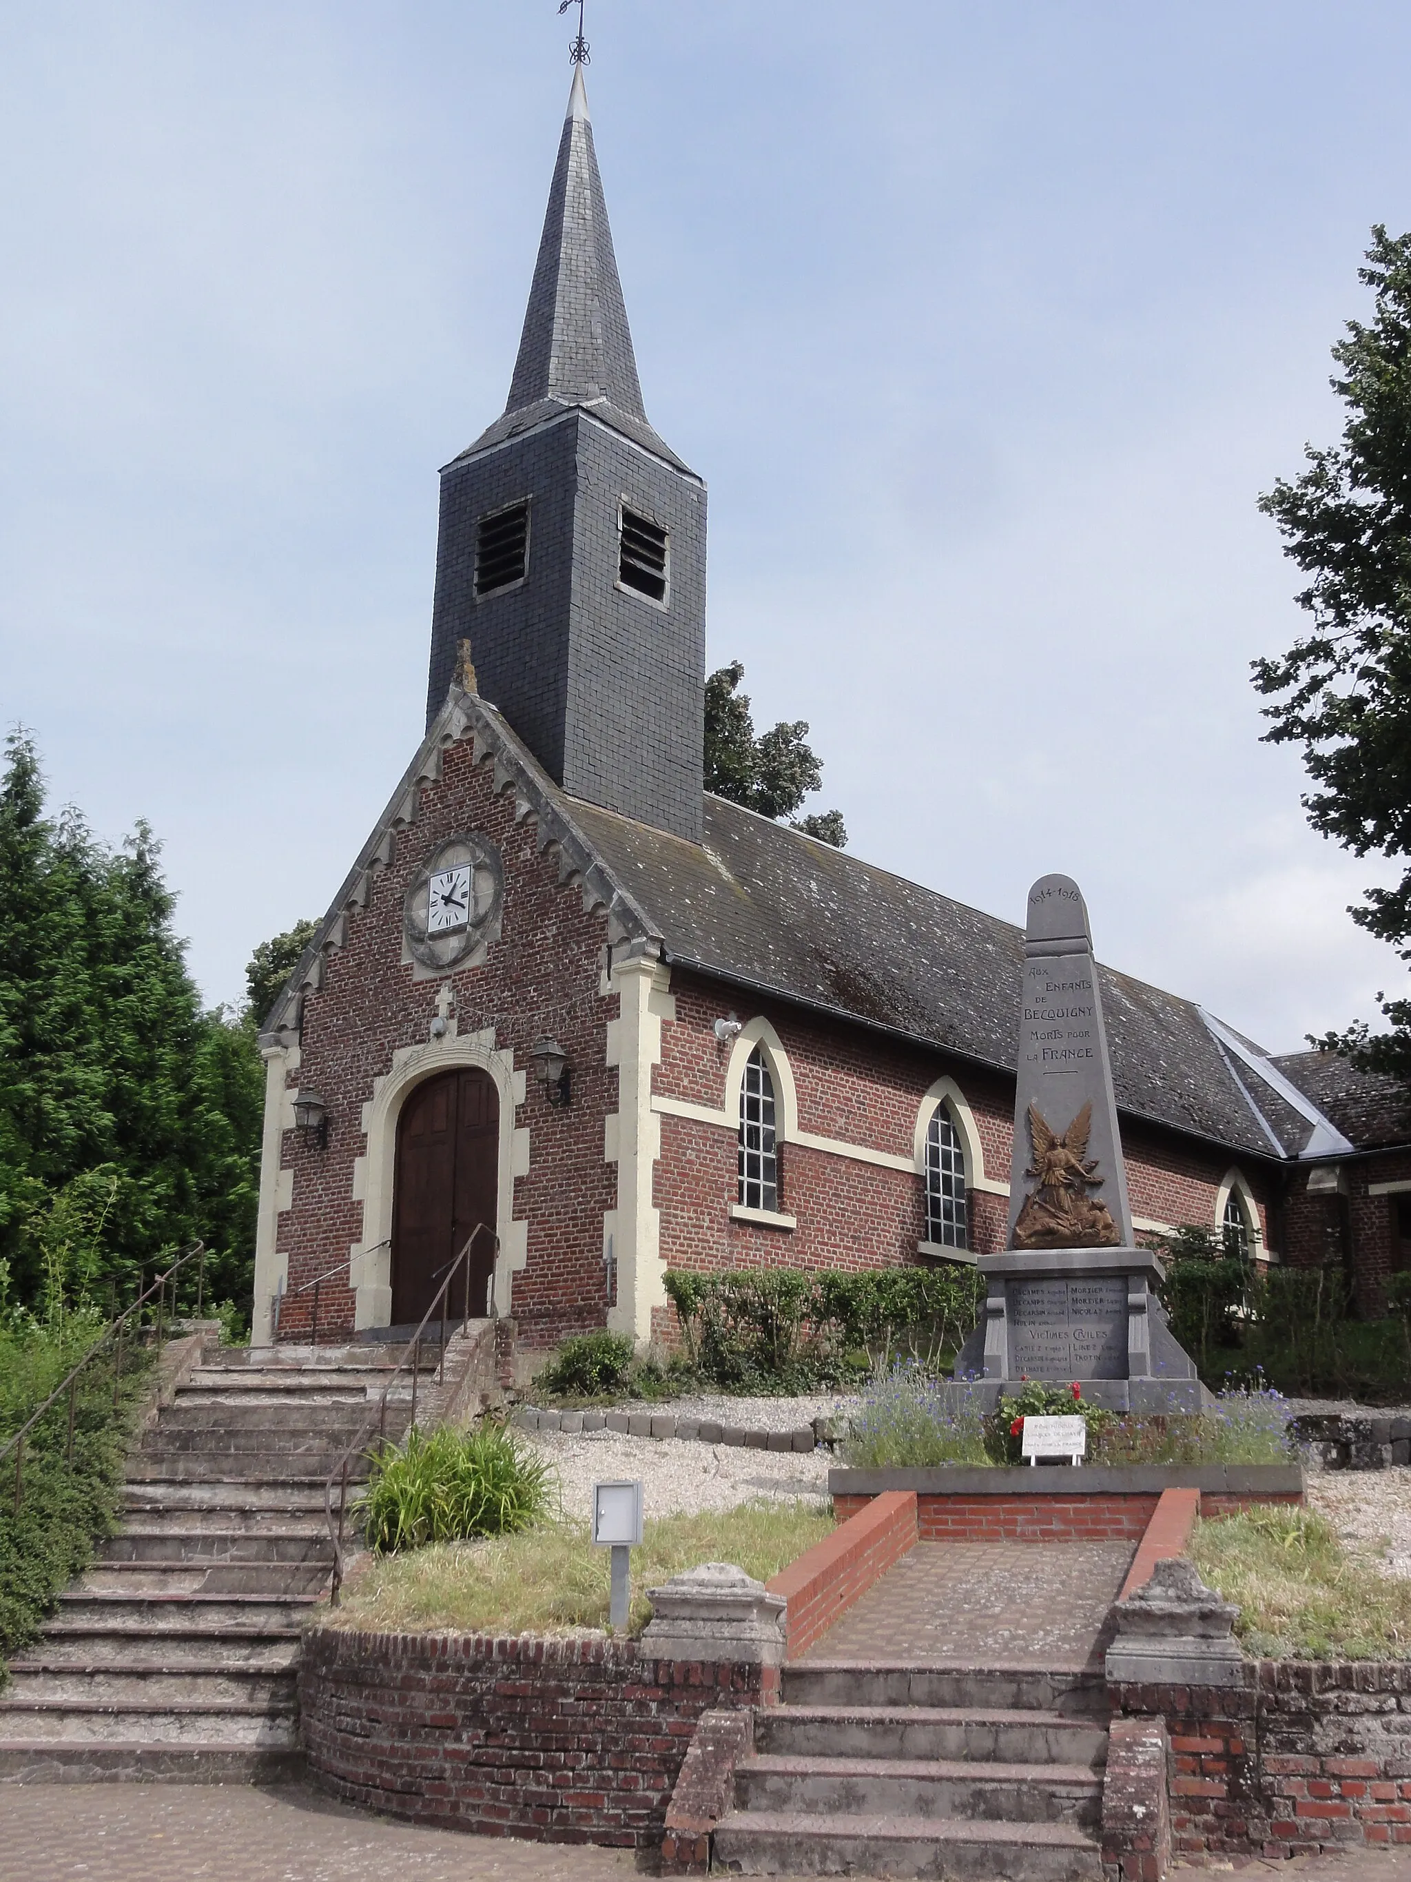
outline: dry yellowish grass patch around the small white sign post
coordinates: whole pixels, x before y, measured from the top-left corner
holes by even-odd
[[[768,1581],[832,1530],[813,1502],[751,1502],[736,1509],[658,1517],[632,1551],[628,1634],[651,1619],[647,1588],[700,1562],[736,1562]],[[335,1628],[403,1634],[574,1634],[608,1628],[608,1549],[581,1524],[555,1523],[491,1541],[440,1543],[369,1556],[344,1585]]]

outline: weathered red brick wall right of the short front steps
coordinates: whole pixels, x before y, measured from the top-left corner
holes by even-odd
[[[1264,1660],[1247,1688],[1112,1686],[1170,1735],[1172,1852],[1411,1842],[1411,1664]]]

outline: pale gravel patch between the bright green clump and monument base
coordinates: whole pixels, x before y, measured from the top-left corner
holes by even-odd
[[[741,1423],[754,1423],[753,1413]],[[788,1430],[790,1425],[775,1428]],[[534,1430],[521,1432],[521,1438],[559,1472],[564,1515],[583,1521],[593,1507],[595,1483],[642,1477],[647,1515],[670,1517],[694,1509],[734,1509],[754,1496],[824,1500],[835,1462],[832,1451],[743,1451],[722,1443],[628,1438],[617,1430],[591,1430],[576,1438],[561,1430]]]

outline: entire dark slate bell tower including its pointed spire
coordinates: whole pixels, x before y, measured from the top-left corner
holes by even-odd
[[[427,725],[461,640],[570,796],[700,841],[706,486],[647,423],[581,64],[504,416],[440,472]]]

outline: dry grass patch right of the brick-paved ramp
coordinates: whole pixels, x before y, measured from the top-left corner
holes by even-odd
[[[1234,1632],[1257,1658],[1411,1658],[1411,1581],[1351,1555],[1311,1509],[1259,1504],[1200,1523],[1191,1558],[1240,1607]]]

